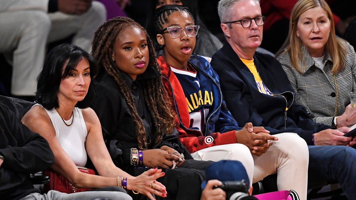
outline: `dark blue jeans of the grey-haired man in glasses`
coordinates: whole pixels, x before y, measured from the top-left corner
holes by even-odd
[[[356,149],[346,146],[308,146],[308,183],[339,181],[348,199],[356,199]]]

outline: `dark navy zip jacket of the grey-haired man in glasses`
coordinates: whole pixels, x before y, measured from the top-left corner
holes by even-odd
[[[294,90],[278,60],[259,52],[255,52],[253,59],[263,83],[277,96],[258,91],[253,74],[229,43],[225,43],[211,59],[211,66],[220,77],[227,109],[237,123],[252,122],[253,126],[264,126],[271,135],[297,133],[308,145],[312,144],[313,133],[333,128],[315,123],[302,105],[294,103]]]

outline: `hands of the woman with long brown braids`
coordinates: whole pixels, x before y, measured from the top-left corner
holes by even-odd
[[[159,149],[148,149],[142,151],[143,154],[143,164],[150,168],[172,168],[173,163],[176,162],[176,167],[182,166],[185,162],[184,158],[180,154],[174,153],[175,149],[162,146]],[[182,160],[182,161],[179,161]]]

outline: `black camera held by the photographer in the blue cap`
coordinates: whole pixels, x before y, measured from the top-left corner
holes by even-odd
[[[248,195],[250,186],[245,180],[242,181],[224,181],[222,185],[215,185],[213,189],[221,188],[226,192],[227,200],[257,200],[256,197]]]

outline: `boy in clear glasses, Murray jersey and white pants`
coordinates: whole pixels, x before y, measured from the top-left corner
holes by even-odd
[[[271,136],[252,123],[239,127],[208,60],[192,55],[198,27],[186,7],[164,9],[156,16],[157,41],[164,49],[157,61],[176,112],[180,141],[197,160],[239,160],[250,184],[278,170],[278,189],[306,194],[307,144],[295,133]]]

